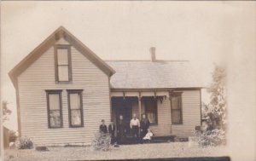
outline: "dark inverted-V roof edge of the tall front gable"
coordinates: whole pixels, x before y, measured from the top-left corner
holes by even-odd
[[[27,55],[20,63],[15,66],[10,72],[9,77],[16,86],[16,78],[20,73],[24,72],[28,66],[37,60],[44,52],[54,45],[59,39],[63,37],[68,43],[71,43],[76,49],[78,49],[88,60],[94,63],[98,68],[105,72],[109,77],[115,72],[111,66],[99,58],[93,51],[80,42],[78,38],[74,37],[73,34],[67,31],[63,26],[60,26],[55,32],[47,37],[43,43],[38,45],[36,49]]]

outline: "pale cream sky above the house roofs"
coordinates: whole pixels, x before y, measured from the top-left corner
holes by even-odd
[[[189,60],[207,85],[213,63],[225,63],[224,36],[234,9],[246,8],[226,2],[2,2],[1,92],[13,111],[5,124],[17,129],[8,72],[59,26],[103,60],[149,60],[154,46],[156,59]]]

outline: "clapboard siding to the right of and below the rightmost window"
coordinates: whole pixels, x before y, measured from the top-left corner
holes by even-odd
[[[195,126],[201,125],[200,92],[200,89],[183,91],[183,124],[172,124],[172,134],[180,136],[195,135]]]

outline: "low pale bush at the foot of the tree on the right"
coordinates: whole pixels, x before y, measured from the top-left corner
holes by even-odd
[[[200,147],[219,146],[225,144],[225,132],[223,129],[212,129],[196,132]]]

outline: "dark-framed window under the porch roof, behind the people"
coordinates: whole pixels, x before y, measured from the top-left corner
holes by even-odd
[[[154,97],[143,97],[145,114],[150,124],[157,124],[157,101]]]

